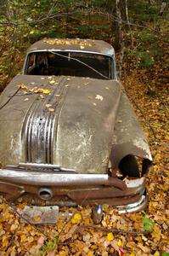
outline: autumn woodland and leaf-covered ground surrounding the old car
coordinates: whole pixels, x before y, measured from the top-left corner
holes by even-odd
[[[149,207],[120,216],[104,206],[104,230],[76,230],[93,224],[90,207],[63,208],[73,218],[59,216],[55,226],[23,224],[0,198],[0,255],[169,255],[168,16],[168,3],[160,0],[0,0],[0,91],[20,73],[25,49],[41,38],[107,41],[115,47],[119,76],[154,158]]]

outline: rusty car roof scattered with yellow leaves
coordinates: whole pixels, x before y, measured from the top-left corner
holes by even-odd
[[[27,53],[43,50],[71,50],[82,52],[93,52],[102,55],[114,55],[114,48],[102,41],[92,39],[68,39],[68,38],[44,38],[32,44]]]

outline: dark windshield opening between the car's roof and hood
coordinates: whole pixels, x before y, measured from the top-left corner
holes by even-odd
[[[65,75],[114,79],[114,61],[107,55],[82,52],[36,52],[27,56],[27,75]]]

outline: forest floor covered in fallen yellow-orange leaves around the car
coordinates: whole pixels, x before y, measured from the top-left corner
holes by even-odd
[[[90,226],[77,230],[79,225],[93,225],[91,207],[62,208],[65,216],[66,212],[73,213],[71,218],[63,218],[59,213],[57,224],[33,226],[24,224],[14,208],[0,198],[0,255],[169,255],[169,210],[166,201],[169,147],[167,87],[157,84],[155,95],[149,96],[142,79],[144,77],[144,70],[140,73],[132,72],[123,79],[123,84],[127,94],[134,100],[133,107],[149,138],[154,159],[147,177],[147,209],[120,215],[112,207],[104,206],[104,218],[99,227],[105,230]],[[25,204],[22,203],[19,207],[22,209]],[[115,234],[113,230],[121,232]],[[132,230],[136,233],[127,234]],[[138,234],[140,230],[143,231],[142,234]]]

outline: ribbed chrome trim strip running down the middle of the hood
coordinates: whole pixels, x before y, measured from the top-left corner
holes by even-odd
[[[26,113],[22,127],[25,162],[53,164],[54,127],[58,125],[59,111],[68,90],[64,84],[65,77],[62,77],[51,95],[45,96],[45,99],[36,99]],[[55,94],[60,96],[56,97]],[[54,112],[48,110],[47,104],[52,105]]]

